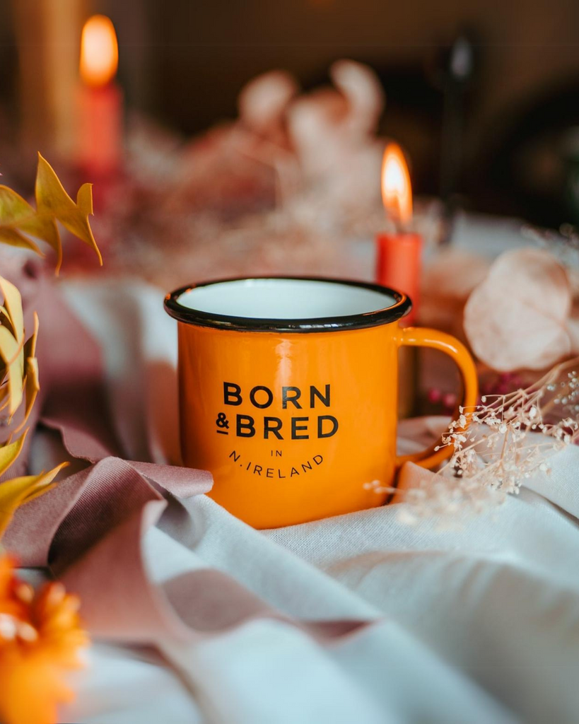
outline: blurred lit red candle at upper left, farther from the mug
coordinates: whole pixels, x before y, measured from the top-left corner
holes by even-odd
[[[114,83],[119,50],[112,22],[93,15],[80,41],[77,161],[87,175],[113,174],[122,155],[122,91]]]

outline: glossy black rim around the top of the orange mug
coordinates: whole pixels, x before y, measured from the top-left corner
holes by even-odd
[[[369,312],[345,314],[340,316],[311,317],[308,319],[268,319],[266,317],[245,317],[229,314],[218,314],[200,311],[179,304],[178,298],[198,287],[208,287],[224,282],[253,282],[260,280],[272,281],[279,279],[291,282],[329,282],[349,287],[361,287],[371,292],[378,292],[384,296],[394,298],[396,303]],[[165,297],[165,311],[177,321],[193,324],[195,327],[211,327],[211,329],[229,329],[234,332],[295,332],[304,334],[308,332],[337,332],[345,329],[368,329],[391,324],[402,319],[412,308],[410,297],[390,287],[360,282],[354,279],[339,279],[338,277],[284,277],[267,274],[255,277],[226,277],[224,279],[211,279],[209,282],[185,285],[169,292]]]

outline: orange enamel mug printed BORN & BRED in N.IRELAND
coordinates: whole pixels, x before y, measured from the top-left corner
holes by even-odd
[[[209,495],[255,528],[383,505],[398,466],[433,467],[450,450],[396,454],[398,350],[431,347],[462,373],[454,337],[400,327],[401,292],[341,279],[227,279],[166,296],[178,321],[185,465],[211,471]]]

